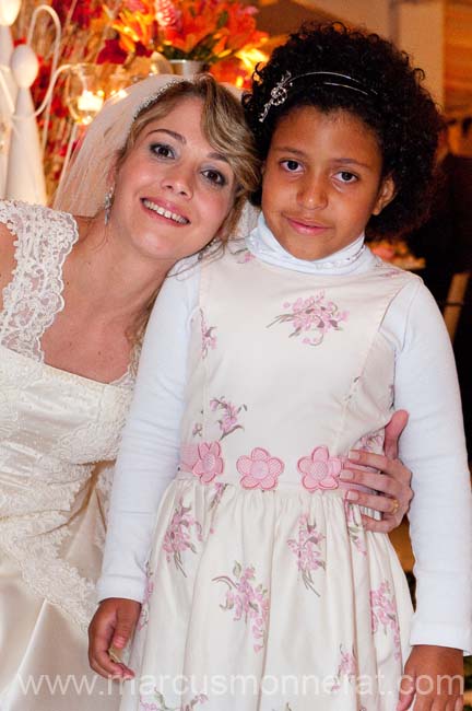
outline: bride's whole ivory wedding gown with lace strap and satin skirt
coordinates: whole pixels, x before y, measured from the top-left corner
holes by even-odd
[[[72,215],[0,202],[0,221],[16,237],[0,313],[0,709],[111,711],[119,689],[86,657],[111,483],[95,465],[116,456],[132,377],[104,384],[44,362]]]

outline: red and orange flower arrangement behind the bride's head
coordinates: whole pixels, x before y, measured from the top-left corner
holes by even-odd
[[[13,26],[16,42],[24,42],[34,9],[42,0],[23,0]],[[62,26],[59,65],[101,65],[105,95],[109,84],[145,75],[151,56],[193,59],[211,67],[219,81],[247,85],[252,57],[248,49],[267,34],[256,28],[257,9],[241,0],[50,0]],[[39,106],[49,84],[55,32],[47,14],[36,25],[34,46],[39,74],[32,86]],[[244,53],[241,53],[244,49]],[[256,60],[263,59],[260,55]],[[52,96],[45,151],[48,194],[52,194],[72,131],[66,103],[67,74],[59,75]],[[45,115],[39,119],[45,125]]]

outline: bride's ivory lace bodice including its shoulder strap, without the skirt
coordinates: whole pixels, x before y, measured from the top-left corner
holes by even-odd
[[[85,626],[103,540],[90,515],[94,465],[116,457],[130,377],[104,384],[44,363],[40,339],[63,307],[62,267],[78,238],[72,215],[0,202],[16,267],[0,313],[0,547],[26,584]]]

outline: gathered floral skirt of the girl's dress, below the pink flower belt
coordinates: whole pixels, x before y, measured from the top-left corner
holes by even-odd
[[[393,711],[410,593],[344,493],[177,478],[121,711]]]

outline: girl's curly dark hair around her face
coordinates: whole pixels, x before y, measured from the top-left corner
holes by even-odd
[[[298,79],[288,88],[286,101],[271,105],[264,120],[259,120],[271,91],[287,72],[293,78],[314,71],[347,74],[354,83],[346,89],[312,75]],[[397,190],[382,212],[370,218],[367,234],[399,236],[427,217],[434,189],[435,153],[444,121],[423,80],[424,72],[412,66],[405,53],[376,34],[341,23],[304,24],[274,49],[266,66],[257,67],[251,93],[243,97],[243,105],[262,160],[279,120],[295,107],[314,106],[323,113],[342,109],[363,120],[377,137],[382,175],[392,176]],[[363,85],[366,92],[352,85]],[[260,205],[260,190],[252,199]]]

